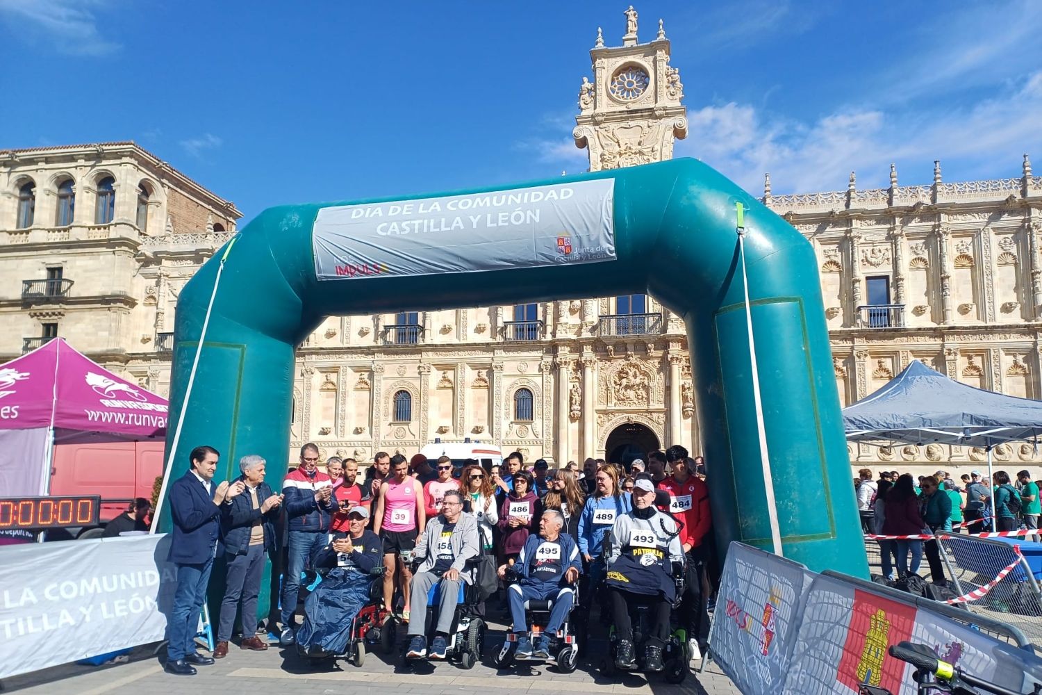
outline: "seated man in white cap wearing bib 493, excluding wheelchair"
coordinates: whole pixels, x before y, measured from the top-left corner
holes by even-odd
[[[606,585],[617,637],[615,666],[624,671],[636,667],[630,613],[641,605],[649,609],[641,661],[644,670],[662,671],[676,578],[684,576],[684,550],[673,517],[654,506],[651,481],[638,479],[632,494],[632,511],[616,519],[609,539]]]

